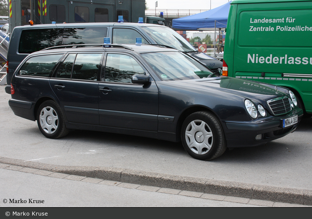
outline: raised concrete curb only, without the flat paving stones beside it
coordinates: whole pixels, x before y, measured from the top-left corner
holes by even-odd
[[[214,195],[312,205],[312,190],[181,177],[110,167],[58,166],[0,157],[0,163],[102,180],[203,192]]]

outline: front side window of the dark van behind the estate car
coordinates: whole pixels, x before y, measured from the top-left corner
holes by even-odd
[[[126,28],[114,28],[112,43],[131,44],[136,42],[136,38],[141,37],[142,43],[147,43],[144,37],[137,31]]]

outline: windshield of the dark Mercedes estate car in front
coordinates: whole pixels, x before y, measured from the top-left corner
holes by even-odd
[[[162,80],[197,79],[213,74],[208,68],[181,52],[154,52],[141,55]]]

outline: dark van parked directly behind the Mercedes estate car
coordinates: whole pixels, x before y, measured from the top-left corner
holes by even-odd
[[[214,73],[221,73],[222,62],[198,52],[177,32],[162,25],[147,23],[26,25],[15,27],[10,38],[7,54],[6,93],[10,94],[12,75],[28,54],[58,45],[103,43],[104,37],[110,37],[110,43],[118,44],[132,44],[136,42],[137,37],[141,37],[142,43],[173,47],[191,55]]]

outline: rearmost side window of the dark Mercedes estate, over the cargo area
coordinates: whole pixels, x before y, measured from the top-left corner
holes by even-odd
[[[62,56],[62,54],[57,54],[31,57],[23,64],[18,74],[49,77]]]

